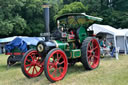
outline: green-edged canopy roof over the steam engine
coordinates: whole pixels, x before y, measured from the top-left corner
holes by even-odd
[[[66,27],[79,27],[94,21],[102,21],[102,18],[87,15],[86,13],[67,13],[59,16],[56,21]]]

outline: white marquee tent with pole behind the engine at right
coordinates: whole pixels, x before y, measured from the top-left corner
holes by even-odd
[[[109,25],[93,24],[89,27],[94,34],[106,34],[106,38],[112,39],[116,47],[116,59],[118,59],[118,49],[125,54],[128,51],[128,29],[115,29]]]

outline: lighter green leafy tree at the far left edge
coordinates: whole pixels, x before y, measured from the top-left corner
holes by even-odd
[[[0,0],[0,36],[10,36],[13,30],[21,30],[26,27],[25,20],[18,16],[17,10],[23,7],[17,0]],[[17,7],[17,9],[16,9]],[[18,20],[18,21],[17,21]],[[20,28],[16,28],[20,26]]]

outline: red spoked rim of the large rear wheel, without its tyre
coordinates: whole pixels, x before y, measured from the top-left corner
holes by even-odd
[[[91,66],[91,68],[94,69],[99,65],[100,47],[96,39],[92,39],[88,43],[87,58],[88,58],[88,64]]]

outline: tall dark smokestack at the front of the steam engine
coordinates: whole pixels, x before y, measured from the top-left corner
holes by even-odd
[[[45,21],[45,35],[46,35],[46,41],[50,39],[50,30],[49,30],[49,5],[47,3],[44,3],[44,21]]]

